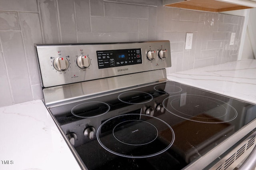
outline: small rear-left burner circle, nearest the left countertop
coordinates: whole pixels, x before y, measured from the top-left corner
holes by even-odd
[[[72,108],[71,113],[76,117],[89,118],[97,117],[107,113],[110,106],[100,101],[81,103]]]

